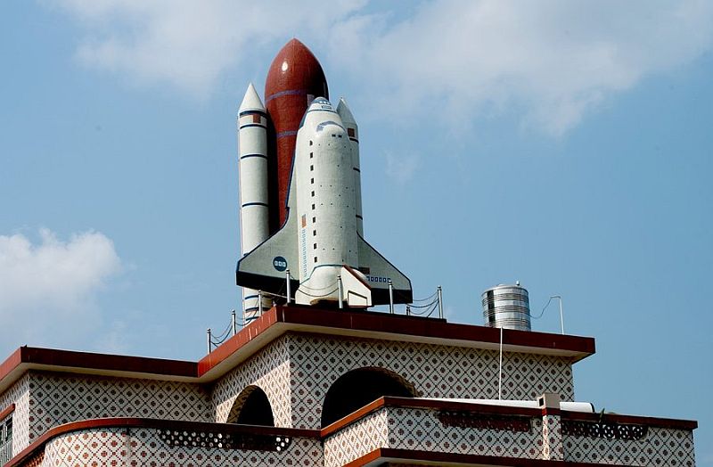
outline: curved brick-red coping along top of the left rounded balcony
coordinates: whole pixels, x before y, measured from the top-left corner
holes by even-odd
[[[41,437],[37,438],[29,447],[26,447],[18,455],[12,457],[4,467],[20,465],[31,455],[45,446],[51,439],[58,436],[79,430],[94,430],[102,428],[151,428],[157,430],[190,430],[190,431],[219,431],[231,434],[249,435],[275,435],[297,438],[319,438],[319,430],[303,430],[297,428],[279,428],[254,425],[234,425],[231,423],[212,422],[185,422],[179,420],[160,420],[154,418],[97,418],[93,420],[82,420],[80,422],[70,422],[45,431]]]

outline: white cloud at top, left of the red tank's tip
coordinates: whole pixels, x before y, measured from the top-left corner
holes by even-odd
[[[142,83],[208,96],[221,72],[291,31],[321,31],[359,2],[56,0],[86,27],[78,58]],[[269,63],[264,64],[266,68]]]

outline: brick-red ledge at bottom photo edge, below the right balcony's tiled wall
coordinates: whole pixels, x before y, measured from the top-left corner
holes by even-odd
[[[394,459],[397,463],[403,461],[418,461],[435,463],[437,465],[445,464],[463,464],[463,465],[503,465],[507,467],[549,467],[557,465],[559,467],[601,467],[601,463],[573,463],[569,461],[545,461],[543,459],[520,459],[517,457],[501,457],[495,455],[471,455],[471,454],[451,454],[439,453],[437,451],[415,451],[413,449],[392,449],[389,447],[381,447],[373,450],[367,455],[363,455],[345,464],[345,467],[361,467],[368,463],[380,460],[382,463],[378,465],[390,465],[383,463],[387,459]],[[626,467],[626,464],[611,463],[611,467]]]

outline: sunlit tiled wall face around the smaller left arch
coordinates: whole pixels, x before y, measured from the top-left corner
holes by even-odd
[[[275,426],[292,427],[288,339],[283,336],[274,340],[217,381],[212,394],[216,422],[226,422],[242,390],[254,385],[265,391]]]

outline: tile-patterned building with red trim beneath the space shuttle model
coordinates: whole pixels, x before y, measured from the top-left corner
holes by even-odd
[[[695,464],[696,422],[568,410],[591,338],[505,329],[486,400],[499,344],[277,306],[198,362],[23,347],[0,366],[5,465]]]

